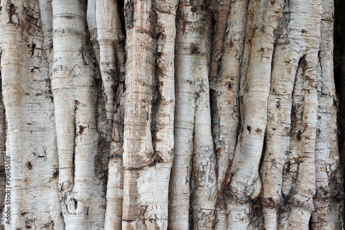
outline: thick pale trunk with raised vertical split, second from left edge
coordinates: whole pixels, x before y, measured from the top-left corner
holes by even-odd
[[[66,229],[103,228],[105,211],[103,186],[95,171],[99,135],[95,71],[86,44],[85,9],[79,1],[52,1],[52,91],[59,151],[59,189]]]

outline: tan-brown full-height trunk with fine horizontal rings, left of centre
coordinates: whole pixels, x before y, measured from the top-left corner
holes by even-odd
[[[155,74],[155,40],[150,13],[152,1],[126,1],[126,100],[124,113],[124,205],[122,229],[144,228],[152,213],[150,189],[155,164],[151,139],[152,82]],[[155,20],[155,19],[153,19]],[[143,30],[139,32],[139,28]],[[149,178],[146,178],[149,176]],[[140,180],[144,179],[144,180]],[[146,191],[145,191],[146,190]],[[139,196],[140,194],[140,196]],[[151,197],[149,198],[149,196]],[[146,203],[147,202],[147,203]],[[150,225],[148,225],[150,226]]]

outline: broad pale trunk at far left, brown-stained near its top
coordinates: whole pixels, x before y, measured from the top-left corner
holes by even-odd
[[[1,82],[8,121],[6,155],[11,159],[7,186],[12,187],[6,205],[12,223],[5,225],[7,229],[63,227],[39,1],[2,1],[1,9]]]

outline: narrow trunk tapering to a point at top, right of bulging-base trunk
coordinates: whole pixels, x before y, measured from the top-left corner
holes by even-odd
[[[290,4],[284,7],[279,39],[275,44],[270,96],[268,97],[268,124],[266,151],[261,169],[263,183],[264,218],[266,229],[277,229],[277,212],[282,199],[282,172],[290,151],[290,125],[293,90],[297,68],[302,61],[301,48],[294,43],[294,27],[290,20]]]

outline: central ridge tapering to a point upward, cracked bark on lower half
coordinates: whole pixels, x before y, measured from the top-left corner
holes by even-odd
[[[206,56],[207,57],[207,56]],[[204,61],[207,61],[207,59]],[[203,65],[205,68],[207,65]],[[210,102],[207,71],[198,79],[193,151],[193,229],[213,229],[217,179],[215,175],[215,151],[210,130]],[[205,76],[206,75],[206,76]]]

